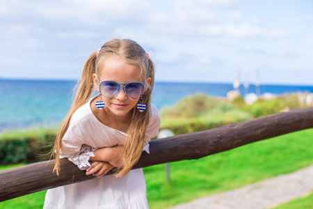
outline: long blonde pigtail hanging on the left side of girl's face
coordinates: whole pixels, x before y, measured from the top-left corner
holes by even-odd
[[[63,123],[61,123],[61,127],[58,130],[58,134],[56,135],[56,140],[54,142],[54,148],[51,150],[51,157],[55,157],[56,159],[54,172],[56,172],[57,175],[60,173],[60,151],[62,149],[62,139],[70,124],[70,119],[72,118],[74,112],[85,104],[93,95],[93,73],[95,73],[96,54],[96,52],[91,54],[83,67],[81,80],[77,82],[77,85],[75,86],[76,91],[74,91],[73,94],[74,102],[72,103],[72,107],[70,108],[70,111],[65,117]]]

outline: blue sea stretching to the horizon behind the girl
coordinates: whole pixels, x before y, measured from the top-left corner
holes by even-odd
[[[76,81],[0,80],[0,132],[38,126],[55,126],[66,116],[72,103]],[[162,109],[194,93],[225,97],[232,84],[193,84],[157,82],[152,102]],[[255,93],[254,85],[248,91]],[[260,93],[313,92],[313,86],[261,85]]]

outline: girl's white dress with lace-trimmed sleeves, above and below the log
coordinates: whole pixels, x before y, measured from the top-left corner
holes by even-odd
[[[150,123],[145,133],[144,150],[148,153],[148,142],[157,136],[160,123],[157,107],[152,104]],[[62,157],[69,158],[80,169],[86,169],[90,165],[88,160],[93,156],[93,148],[124,144],[126,135],[99,122],[91,111],[90,102],[87,102],[71,118],[62,139]],[[82,146],[89,148],[90,152],[77,154]],[[48,189],[44,208],[148,208],[143,169],[131,170],[121,178],[109,175]]]

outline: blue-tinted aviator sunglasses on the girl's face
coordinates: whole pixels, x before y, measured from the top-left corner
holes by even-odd
[[[124,87],[126,94],[133,99],[140,98],[143,92],[145,92],[145,83],[144,84],[141,84],[139,82],[118,83],[112,81],[103,81],[100,84],[100,93],[106,98],[111,98],[113,97],[113,95],[117,95],[120,92],[122,86]]]

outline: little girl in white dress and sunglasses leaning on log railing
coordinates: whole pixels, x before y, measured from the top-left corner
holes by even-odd
[[[67,157],[98,178],[49,189],[44,208],[148,208],[143,170],[131,168],[159,130],[153,85],[154,63],[133,40],[111,40],[90,55],[56,137],[54,171]],[[113,167],[117,174],[104,176]]]

